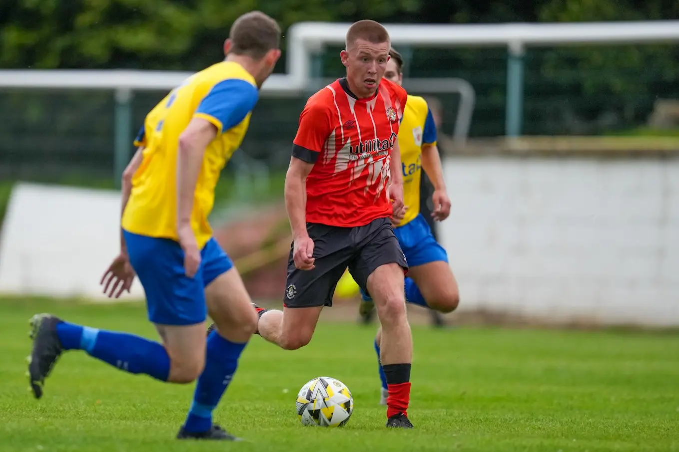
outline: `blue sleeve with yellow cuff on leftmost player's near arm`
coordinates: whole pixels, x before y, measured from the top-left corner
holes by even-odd
[[[223,80],[213,86],[194,113],[223,133],[240,124],[257,104],[259,91],[251,83],[240,79]]]

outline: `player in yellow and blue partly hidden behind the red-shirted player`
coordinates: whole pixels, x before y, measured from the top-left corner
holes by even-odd
[[[391,58],[384,78],[401,85],[403,57],[394,49],[390,50],[389,55]],[[443,221],[450,213],[450,200],[445,190],[436,138],[436,125],[426,100],[409,94],[399,128],[405,215],[394,215],[394,233],[409,266],[408,277],[405,279],[407,302],[445,313],[458,307],[458,283],[448,264],[445,249],[437,243],[426,218],[420,213],[422,169],[434,187],[433,220]],[[375,304],[364,290],[361,290],[361,296],[363,302],[359,309],[363,315],[374,309]],[[385,405],[388,403],[388,379],[384,373],[384,365],[379,364],[380,349],[384,346],[382,330],[383,328],[378,329],[375,337],[375,352],[378,354],[382,380],[380,403]]]

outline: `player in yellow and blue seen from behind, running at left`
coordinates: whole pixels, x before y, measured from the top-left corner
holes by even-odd
[[[213,424],[257,315],[238,270],[207,218],[219,173],[248,129],[259,87],[280,58],[280,28],[261,12],[234,22],[223,62],[189,77],[145,119],[123,175],[120,255],[102,278],[118,297],[135,274],[162,343],[75,325],[50,314],[31,320],[29,365],[36,398],[66,350],[84,350],[122,371],[162,382],[198,379],[179,439],[236,440]],[[206,314],[217,331],[206,338]]]

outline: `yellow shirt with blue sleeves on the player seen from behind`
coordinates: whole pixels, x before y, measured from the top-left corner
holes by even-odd
[[[136,146],[143,161],[132,178],[132,193],[122,227],[147,237],[177,238],[177,150],[179,136],[192,118],[217,127],[217,137],[203,157],[191,211],[198,248],[212,237],[208,215],[215,203],[219,173],[240,146],[259,90],[240,64],[221,62],[189,77],[149,112]]]

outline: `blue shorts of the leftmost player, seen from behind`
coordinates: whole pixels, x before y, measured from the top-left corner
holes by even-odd
[[[193,278],[184,272],[179,243],[123,231],[130,264],[146,294],[149,321],[156,325],[196,325],[207,317],[205,287],[234,266],[212,238],[200,251],[200,267]]]

